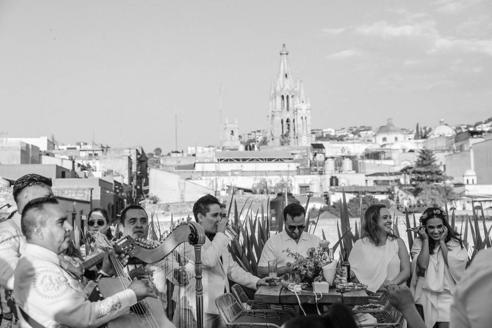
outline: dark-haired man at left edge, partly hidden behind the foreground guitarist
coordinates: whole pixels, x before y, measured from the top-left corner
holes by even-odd
[[[12,218],[0,223],[0,292],[2,299],[4,295],[10,298],[10,293],[14,289],[14,270],[26,247],[26,238],[20,229],[20,213],[30,200],[53,196],[51,185],[50,178],[39,174],[26,174],[14,183],[13,196],[17,204],[17,211]],[[16,327],[15,321],[18,314],[13,305],[13,302],[9,304],[5,302],[2,307],[4,312],[12,318],[12,326]],[[6,323],[7,320],[4,318],[4,321]]]

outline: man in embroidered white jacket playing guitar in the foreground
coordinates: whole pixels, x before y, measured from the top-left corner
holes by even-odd
[[[78,277],[61,268],[58,258],[69,247],[72,230],[55,198],[38,198],[24,208],[27,244],[14,273],[22,327],[97,327],[129,313],[137,300],[155,297],[148,283],[137,280],[105,300],[89,301]]]

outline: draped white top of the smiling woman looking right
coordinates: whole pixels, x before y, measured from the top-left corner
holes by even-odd
[[[360,283],[375,293],[385,280],[393,280],[400,274],[400,256],[397,238],[376,246],[368,237],[355,242],[348,261]]]

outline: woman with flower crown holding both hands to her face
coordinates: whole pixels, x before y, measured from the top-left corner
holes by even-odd
[[[412,247],[410,288],[415,302],[423,306],[425,325],[447,328],[454,286],[465,272],[468,252],[441,209],[426,209],[420,224]]]

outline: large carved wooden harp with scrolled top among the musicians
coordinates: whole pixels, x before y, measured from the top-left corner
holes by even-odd
[[[146,264],[154,284],[161,286],[159,297],[177,328],[203,328],[203,284],[201,248],[205,233],[200,224],[181,221],[163,239],[135,240],[131,260]]]

